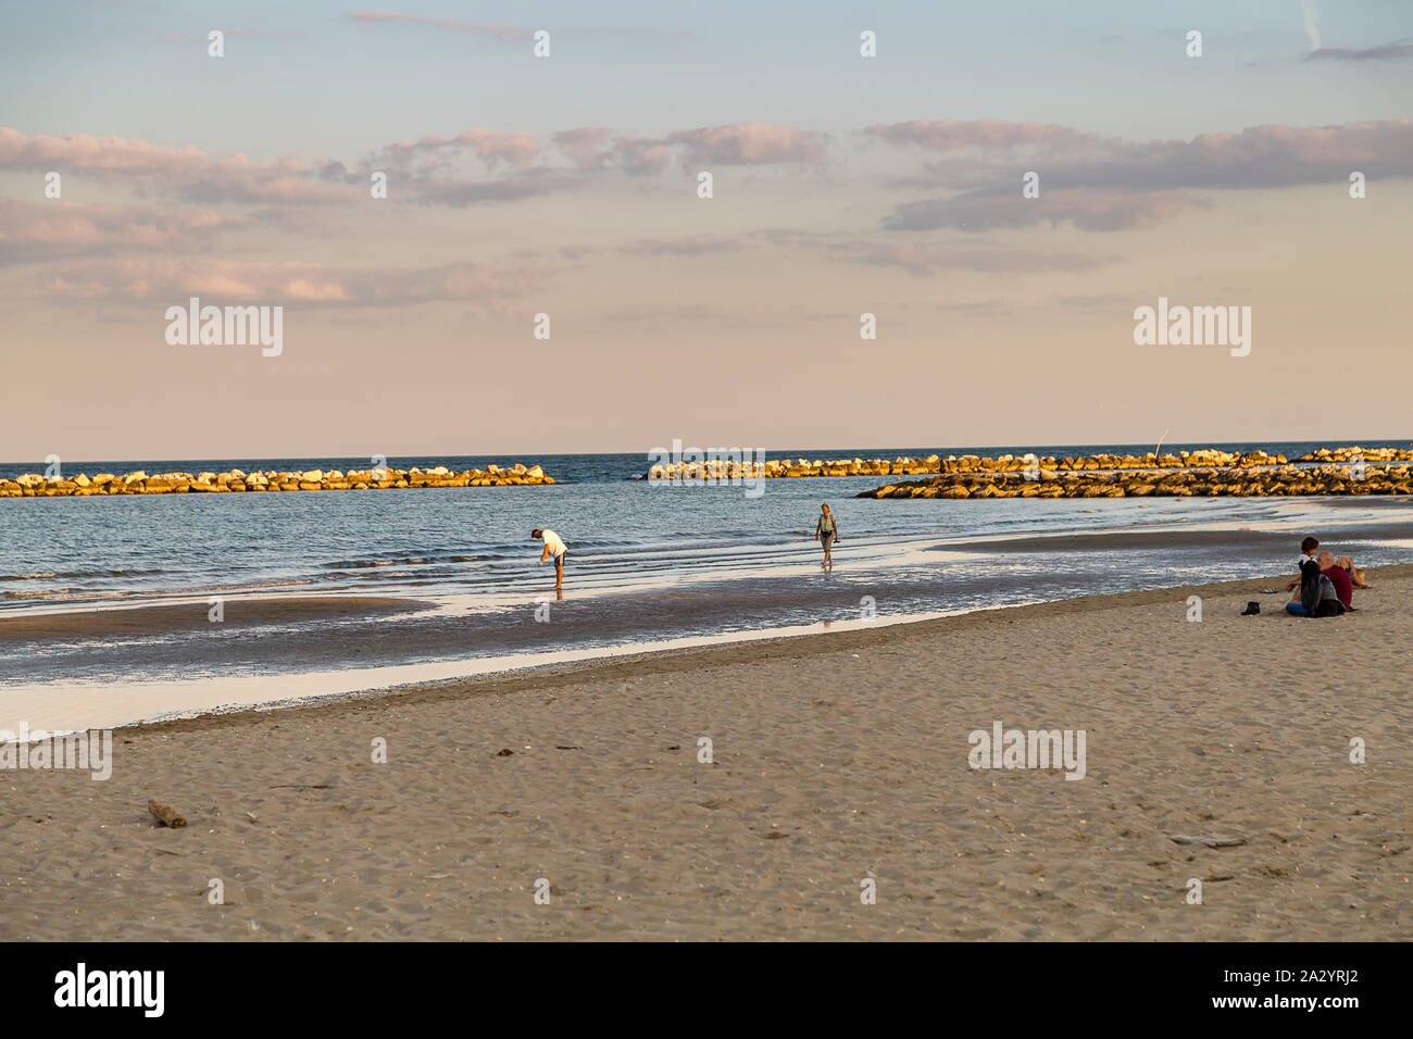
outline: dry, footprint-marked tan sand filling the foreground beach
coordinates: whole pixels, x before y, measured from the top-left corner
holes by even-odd
[[[1369,581],[1330,621],[1270,577],[119,729],[107,782],[0,772],[0,939],[1409,940],[1413,567]],[[998,721],[1082,729],[1084,777],[969,768]]]

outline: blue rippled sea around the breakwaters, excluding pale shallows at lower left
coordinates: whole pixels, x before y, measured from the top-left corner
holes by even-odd
[[[1375,445],[1379,442],[1365,444]],[[1164,445],[1193,447],[1198,445]],[[1294,458],[1321,444],[1215,447],[1263,447]],[[1150,448],[794,448],[767,451],[767,457],[1142,454]],[[812,623],[829,611],[856,614],[865,597],[877,604],[880,615],[904,616],[1249,577],[1270,573],[1273,565],[1284,568],[1308,530],[1327,541],[1342,534],[1341,550],[1361,563],[1413,560],[1413,544],[1383,533],[1393,532],[1396,522],[1413,520],[1413,506],[1386,500],[1347,499],[1334,507],[1328,500],[1306,499],[855,499],[859,491],[882,482],[872,476],[767,481],[760,498],[749,498],[739,486],[646,483],[636,479],[649,465],[642,454],[438,455],[390,458],[389,464],[461,469],[517,461],[544,465],[560,483],[3,499],[0,616],[208,595],[391,595],[482,618],[479,628],[468,628],[458,650],[468,657],[495,656],[509,647],[534,652],[555,647],[562,629],[496,621],[520,616],[552,589],[552,568],[537,565],[540,543],[530,540],[534,527],[551,527],[569,544],[565,592],[584,619],[575,636],[581,645]],[[366,458],[129,459],[66,462],[65,472],[367,465]],[[27,471],[42,471],[42,465],[0,465],[4,475]],[[832,575],[820,571],[820,548],[811,540],[821,502],[835,510],[842,533]],[[1142,543],[1022,553],[969,547],[998,537],[1170,527],[1251,533],[1234,543],[1194,541],[1166,551]],[[593,618],[602,623],[595,626]],[[24,680],[32,659],[32,653],[0,650],[0,681]],[[100,670],[100,663],[93,666]]]

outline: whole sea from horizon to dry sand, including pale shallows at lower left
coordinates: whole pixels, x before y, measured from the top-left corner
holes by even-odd
[[[1284,441],[1163,450],[1263,448],[1294,459],[1349,442],[1407,447]],[[801,447],[764,457],[1150,450]],[[6,697],[21,691],[34,705],[64,690],[86,690],[75,703],[93,703],[95,690],[146,688],[150,695],[129,695],[140,707],[103,720],[150,720],[661,646],[1293,573],[1307,533],[1359,565],[1413,561],[1407,498],[873,500],[856,495],[896,478],[769,479],[762,492],[647,482],[650,461],[646,454],[387,459],[394,468],[543,465],[552,486],[0,499],[0,628],[6,618],[150,605],[208,614],[220,601],[235,612],[259,598],[407,602],[376,618],[294,614],[259,630],[212,621],[122,638],[0,639],[0,728],[16,717],[4,710]],[[369,465],[369,458],[66,459],[64,472]],[[8,478],[42,471],[34,461],[0,464]],[[821,567],[812,539],[821,503],[839,526],[832,571]],[[538,564],[536,527],[568,543],[562,597],[552,565]],[[10,703],[18,701],[10,695]]]

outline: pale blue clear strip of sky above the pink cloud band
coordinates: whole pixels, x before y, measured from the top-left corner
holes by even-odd
[[[0,123],[352,160],[466,126],[653,134],[757,120],[849,134],[1012,119],[1186,139],[1399,117],[1413,90],[1413,62],[1301,61],[1299,0],[366,3],[7,0]],[[1318,7],[1325,47],[1413,37],[1405,0]],[[527,76],[527,41],[345,17],[357,10],[547,28],[554,52]],[[213,27],[261,35],[232,37],[215,66]],[[879,34],[875,62],[858,59],[862,28]],[[1204,33],[1200,66],[1183,54],[1188,28]]]

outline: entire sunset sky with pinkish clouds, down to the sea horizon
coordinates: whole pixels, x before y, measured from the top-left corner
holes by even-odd
[[[360,1],[0,0],[0,458],[1413,438],[1406,0]]]

